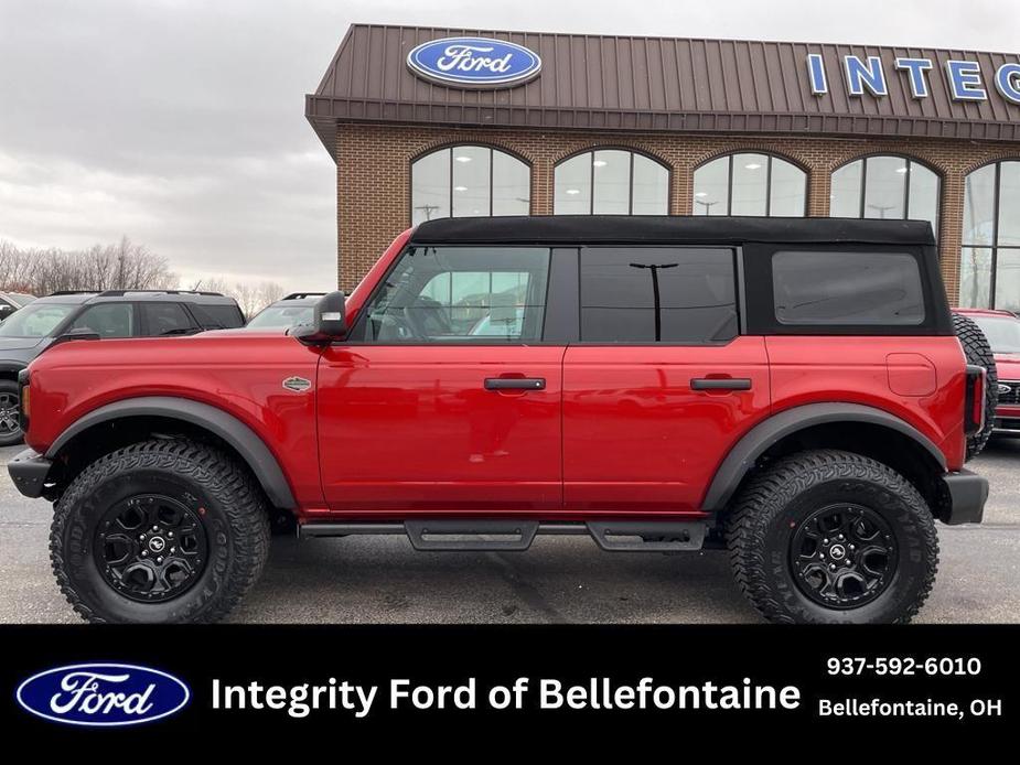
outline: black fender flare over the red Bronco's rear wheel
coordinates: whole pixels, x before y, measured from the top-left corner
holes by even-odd
[[[716,471],[701,509],[706,513],[724,509],[748,471],[770,446],[797,431],[828,422],[863,422],[894,430],[923,446],[942,471],[947,471],[946,459],[938,446],[895,414],[861,403],[807,403],[773,414],[744,433]]]

